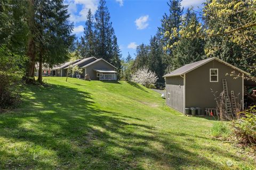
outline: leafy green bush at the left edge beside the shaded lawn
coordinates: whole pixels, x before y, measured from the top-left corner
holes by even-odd
[[[24,75],[26,57],[15,55],[0,47],[0,112],[15,106],[19,101],[18,83]]]

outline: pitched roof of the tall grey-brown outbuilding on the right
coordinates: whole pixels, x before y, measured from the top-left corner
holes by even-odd
[[[186,64],[186,65],[180,67],[179,69],[176,69],[176,70],[172,71],[172,72],[169,73],[169,74],[165,74],[163,77],[172,77],[172,76],[177,76],[177,75],[186,74],[186,73],[188,73],[188,72],[190,72],[190,71],[196,69],[197,67],[199,67],[199,66],[201,66],[201,65],[204,65],[204,64],[206,64],[206,63],[208,63],[208,62],[210,62],[210,61],[213,61],[213,60],[217,60],[217,61],[219,61],[219,62],[221,62],[221,63],[223,63],[223,64],[226,64],[226,65],[232,67],[233,69],[236,69],[236,70],[238,70],[238,71],[240,71],[240,72],[242,72],[242,73],[245,73],[245,74],[249,75],[249,73],[247,73],[247,72],[245,72],[245,71],[243,71],[243,70],[241,70],[241,69],[238,69],[236,66],[234,66],[234,65],[232,65],[232,64],[229,64],[229,63],[227,63],[227,62],[221,60],[220,58],[212,57],[212,58],[207,58],[207,59],[205,59],[205,60],[201,60],[201,61],[198,61],[198,62]]]

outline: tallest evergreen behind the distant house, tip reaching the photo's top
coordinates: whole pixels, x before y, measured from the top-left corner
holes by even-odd
[[[114,30],[105,0],[99,2],[98,10],[95,13],[95,21],[97,57],[110,62]]]

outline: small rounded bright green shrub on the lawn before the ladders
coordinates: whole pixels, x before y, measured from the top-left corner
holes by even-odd
[[[226,122],[215,122],[211,128],[211,134],[213,137],[227,139],[230,135],[230,127]]]

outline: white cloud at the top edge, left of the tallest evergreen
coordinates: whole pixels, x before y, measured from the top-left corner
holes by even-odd
[[[69,20],[75,23],[80,21],[86,21],[86,15],[89,9],[91,9],[92,14],[94,14],[98,8],[98,0],[66,0],[65,4],[69,5]],[[77,13],[77,8],[79,5],[81,5],[81,10],[79,11],[79,13]]]

